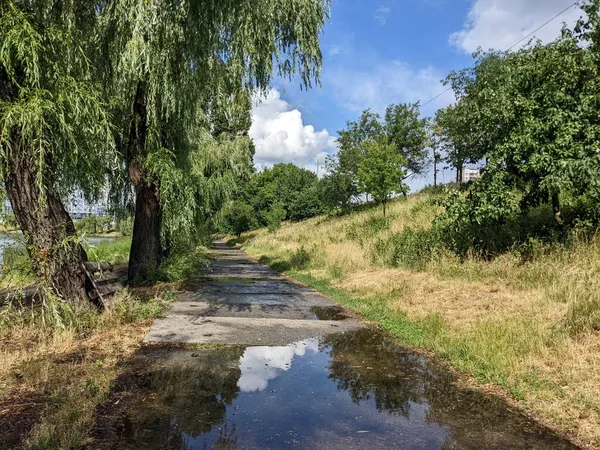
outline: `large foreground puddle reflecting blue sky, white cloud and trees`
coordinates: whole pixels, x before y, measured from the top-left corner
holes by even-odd
[[[145,348],[101,409],[106,448],[576,448],[362,328],[285,347]]]

